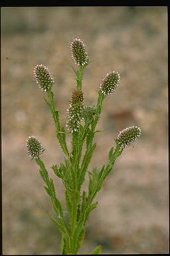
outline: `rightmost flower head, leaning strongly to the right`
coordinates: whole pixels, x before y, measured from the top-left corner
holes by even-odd
[[[116,143],[122,148],[128,147],[141,136],[141,129],[137,126],[127,127],[120,131],[116,139]]]

